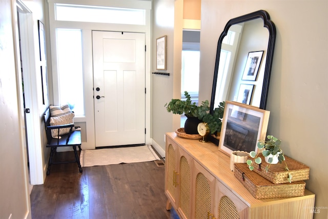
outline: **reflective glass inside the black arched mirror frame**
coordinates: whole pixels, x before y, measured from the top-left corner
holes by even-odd
[[[261,18],[229,28],[221,46],[214,108],[226,100],[260,106],[268,41]]]

